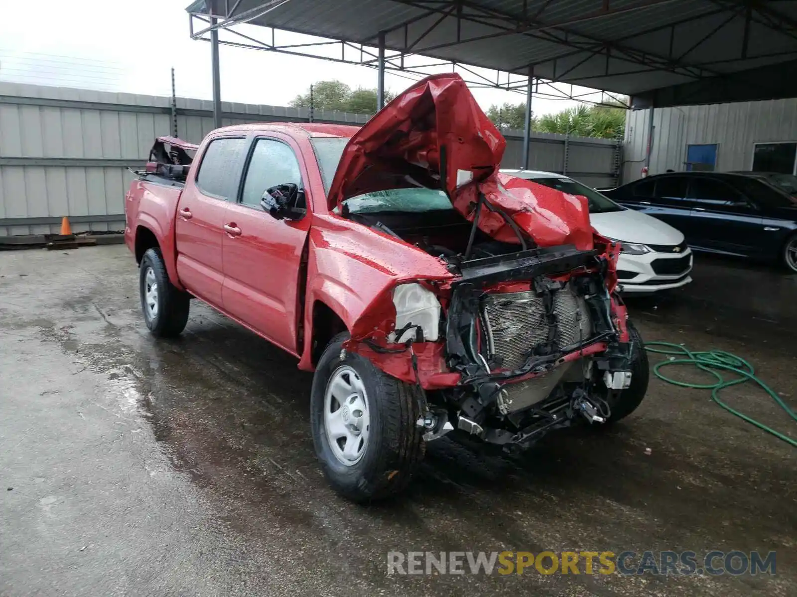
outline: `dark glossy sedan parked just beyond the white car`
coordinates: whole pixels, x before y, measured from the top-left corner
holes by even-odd
[[[761,178],[675,172],[603,194],[671,224],[696,251],[776,260],[797,272],[797,199]]]

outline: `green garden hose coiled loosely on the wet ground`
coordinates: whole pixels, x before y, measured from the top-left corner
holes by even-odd
[[[655,349],[651,348],[651,346],[666,346],[667,348]],[[724,350],[701,350],[692,352],[685,346],[681,346],[680,344],[672,344],[670,342],[648,342],[645,348],[650,353],[669,354],[675,355],[676,357],[682,357],[674,358],[671,361],[662,361],[661,363],[654,365],[653,373],[660,380],[664,380],[668,384],[680,385],[681,388],[711,390],[711,399],[726,411],[738,416],[740,419],[744,419],[748,423],[752,423],[756,427],[759,427],[760,429],[763,429],[772,435],[775,435],[775,437],[778,439],[783,439],[784,442],[790,443],[793,447],[797,447],[797,440],[791,439],[787,435],[783,435],[771,427],[767,427],[764,425],[764,423],[759,423],[756,421],[756,419],[744,415],[720,400],[719,394],[721,389],[730,388],[732,385],[744,384],[745,381],[753,380],[756,382],[756,384],[759,384],[761,388],[764,388],[764,392],[767,392],[769,396],[771,396],[772,399],[779,404],[780,408],[783,408],[783,410],[787,412],[788,416],[791,416],[792,419],[797,421],[797,414],[795,414],[795,412],[789,408],[788,404],[780,399],[780,396],[778,396],[777,392],[773,392],[767,384],[764,384],[763,381],[756,377],[756,370],[753,369],[753,366],[750,365],[748,361],[745,361],[741,357],[737,357],[735,354],[726,353]],[[662,369],[662,367],[665,365],[694,365],[697,367],[697,369],[701,369],[701,371],[711,373],[717,378],[717,382],[714,384],[689,384],[685,381],[673,380],[669,377],[666,377],[661,373],[661,371],[659,371],[659,369]],[[725,380],[724,377],[722,377],[717,371],[717,369],[736,373],[740,377],[732,380]]]

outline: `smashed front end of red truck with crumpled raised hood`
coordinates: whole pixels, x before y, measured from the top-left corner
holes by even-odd
[[[528,447],[574,419],[621,418],[646,391],[614,293],[619,246],[584,197],[500,174],[504,150],[465,83],[432,76],[351,138],[328,193],[336,213],[411,245],[406,259],[443,266],[386,284],[344,342],[418,388],[426,440]]]

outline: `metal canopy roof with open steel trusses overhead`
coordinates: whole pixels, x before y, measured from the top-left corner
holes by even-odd
[[[797,96],[791,0],[198,0],[187,10],[195,38],[227,29],[245,39],[221,43],[308,53],[234,29],[263,25],[336,40],[340,58],[325,58],[373,66],[383,36],[386,68],[431,57],[514,75],[481,76],[493,87],[520,90],[532,76],[622,93],[634,107]]]

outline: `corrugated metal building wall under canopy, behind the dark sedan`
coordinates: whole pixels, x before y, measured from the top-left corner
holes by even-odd
[[[622,181],[640,178],[649,111],[629,111]],[[797,99],[656,108],[650,173],[684,170],[686,146],[717,143],[717,170],[750,170],[753,143],[797,140]]]

